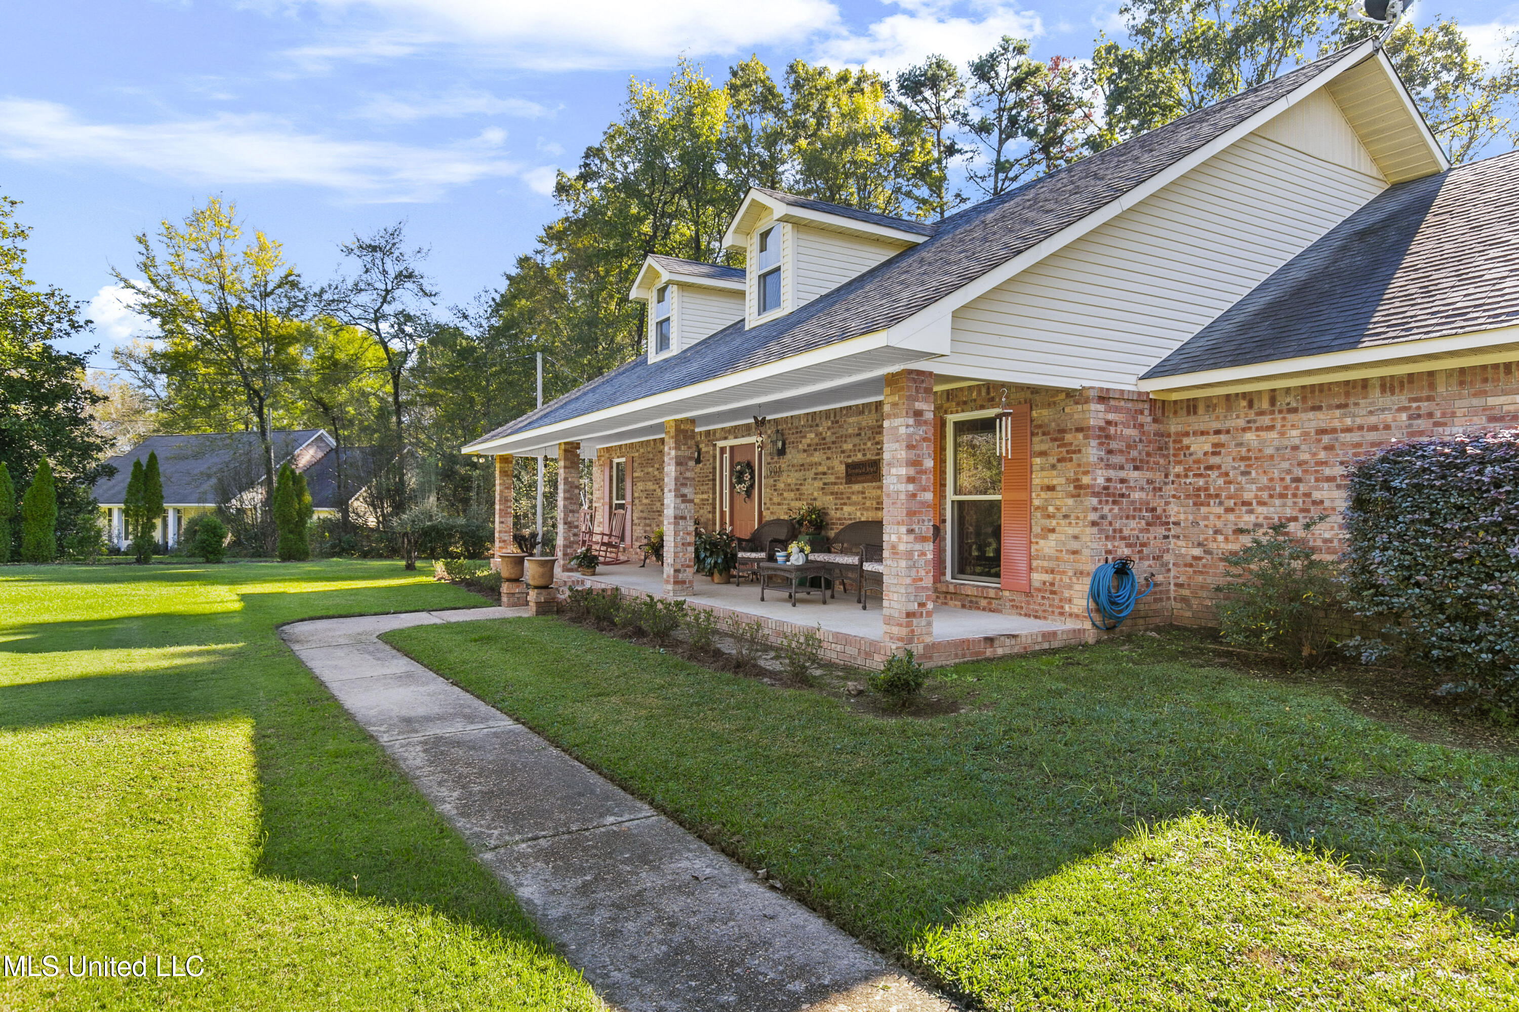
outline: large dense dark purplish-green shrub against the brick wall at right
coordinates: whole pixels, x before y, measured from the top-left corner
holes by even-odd
[[[1350,468],[1346,579],[1355,609],[1451,681],[1519,711],[1519,430],[1388,447]]]

